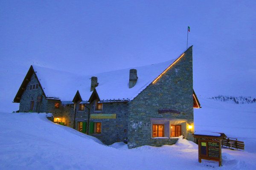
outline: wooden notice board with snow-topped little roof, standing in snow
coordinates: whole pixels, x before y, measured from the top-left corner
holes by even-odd
[[[227,136],[224,133],[194,133],[193,136],[198,139],[198,161],[202,159],[218,161],[219,167],[222,166],[221,141]]]

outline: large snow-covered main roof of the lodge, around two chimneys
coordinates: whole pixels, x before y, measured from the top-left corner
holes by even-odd
[[[96,87],[96,91],[101,102],[129,101],[140,94],[141,91],[179,57],[158,64],[126,68],[93,75],[83,75],[83,73],[73,74],[35,65],[32,67],[47,98],[72,101],[76,92],[79,91],[82,100],[87,102],[92,94],[92,91],[90,91],[90,78],[97,77],[99,85]],[[137,70],[138,79],[133,88],[129,88],[130,69]]]

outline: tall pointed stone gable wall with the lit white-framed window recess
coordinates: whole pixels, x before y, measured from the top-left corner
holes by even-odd
[[[158,109],[171,108],[179,114],[159,114]],[[177,139],[151,139],[150,118],[183,119],[194,124],[192,47],[165,74],[151,83],[129,104],[128,147],[173,144]],[[186,128],[186,139],[193,141],[192,132]]]

